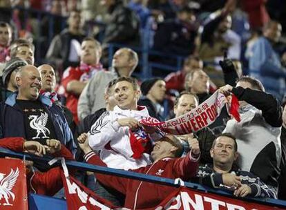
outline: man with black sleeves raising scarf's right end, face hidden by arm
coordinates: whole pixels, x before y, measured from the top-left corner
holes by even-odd
[[[242,77],[236,87],[220,88],[240,101],[240,122],[231,119],[223,133],[236,137],[240,148],[238,165],[257,175],[265,184],[278,190],[280,175],[282,107],[278,99],[265,93],[258,79]]]

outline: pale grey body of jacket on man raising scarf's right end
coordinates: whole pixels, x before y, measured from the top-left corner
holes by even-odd
[[[238,164],[241,169],[244,171],[257,169],[256,175],[263,179],[263,175],[267,176],[266,171],[271,171],[271,167],[267,166],[271,165],[277,169],[280,166],[281,127],[269,125],[263,118],[262,112],[250,104],[240,108],[240,117],[240,122],[229,120],[223,133],[232,133],[236,137],[240,152]],[[271,158],[268,153],[272,154]],[[263,166],[258,162],[263,162]],[[261,170],[263,167],[267,170]],[[263,175],[257,174],[258,171]]]

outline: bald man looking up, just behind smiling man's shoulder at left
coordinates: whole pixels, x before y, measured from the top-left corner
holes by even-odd
[[[48,64],[43,64],[38,67],[38,70],[39,73],[41,73],[41,95],[49,97],[53,103],[62,108],[66,121],[68,122],[68,126],[72,133],[74,133],[76,124],[73,119],[73,113],[59,102],[57,93],[55,93],[56,76],[54,68]]]

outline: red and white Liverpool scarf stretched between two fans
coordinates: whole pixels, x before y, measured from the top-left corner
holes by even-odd
[[[236,96],[231,95],[231,106],[229,108],[227,97],[217,90],[198,107],[180,117],[176,117],[166,122],[153,122],[150,117],[148,119],[141,120],[141,123],[146,126],[155,126],[160,131],[174,135],[193,133],[215,122],[216,118],[220,115],[222,108],[226,104],[229,114],[240,122],[240,115],[238,113],[239,104]]]

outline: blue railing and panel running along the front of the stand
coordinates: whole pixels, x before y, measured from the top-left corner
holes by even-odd
[[[16,153],[14,151],[9,151],[7,149],[0,148],[1,157],[11,157],[11,158],[19,158],[25,160],[33,160],[38,162],[48,162],[52,158],[48,157],[39,157],[36,155],[31,155],[28,153]],[[59,163],[58,163],[59,164]],[[66,161],[66,166],[68,168],[79,169],[81,171],[93,171],[97,173],[103,173],[107,175],[116,175],[123,178],[130,178],[135,180],[142,180],[145,182],[153,182],[154,184],[164,184],[171,187],[180,187],[180,183],[175,182],[175,180],[169,178],[162,178],[153,175],[145,175],[141,173],[134,173],[131,171],[123,171],[117,169],[111,169],[102,166],[95,166],[92,164],[86,164],[84,162],[76,162],[76,161]],[[223,191],[220,189],[211,189],[209,187],[204,187],[201,184],[195,184],[191,182],[184,182],[184,186],[188,189],[193,189],[196,191],[201,191],[202,193],[207,195],[219,195],[220,197],[225,198],[225,200],[229,200],[233,198],[227,191]],[[269,209],[274,209],[274,207],[278,207],[280,209],[286,209],[286,201],[284,200],[275,200],[271,198],[235,198],[236,200],[247,201],[251,204],[262,204],[265,207],[269,207]],[[66,209],[66,204],[64,200],[59,200],[56,198],[50,198],[42,195],[29,195],[29,208],[30,210],[34,209]]]

